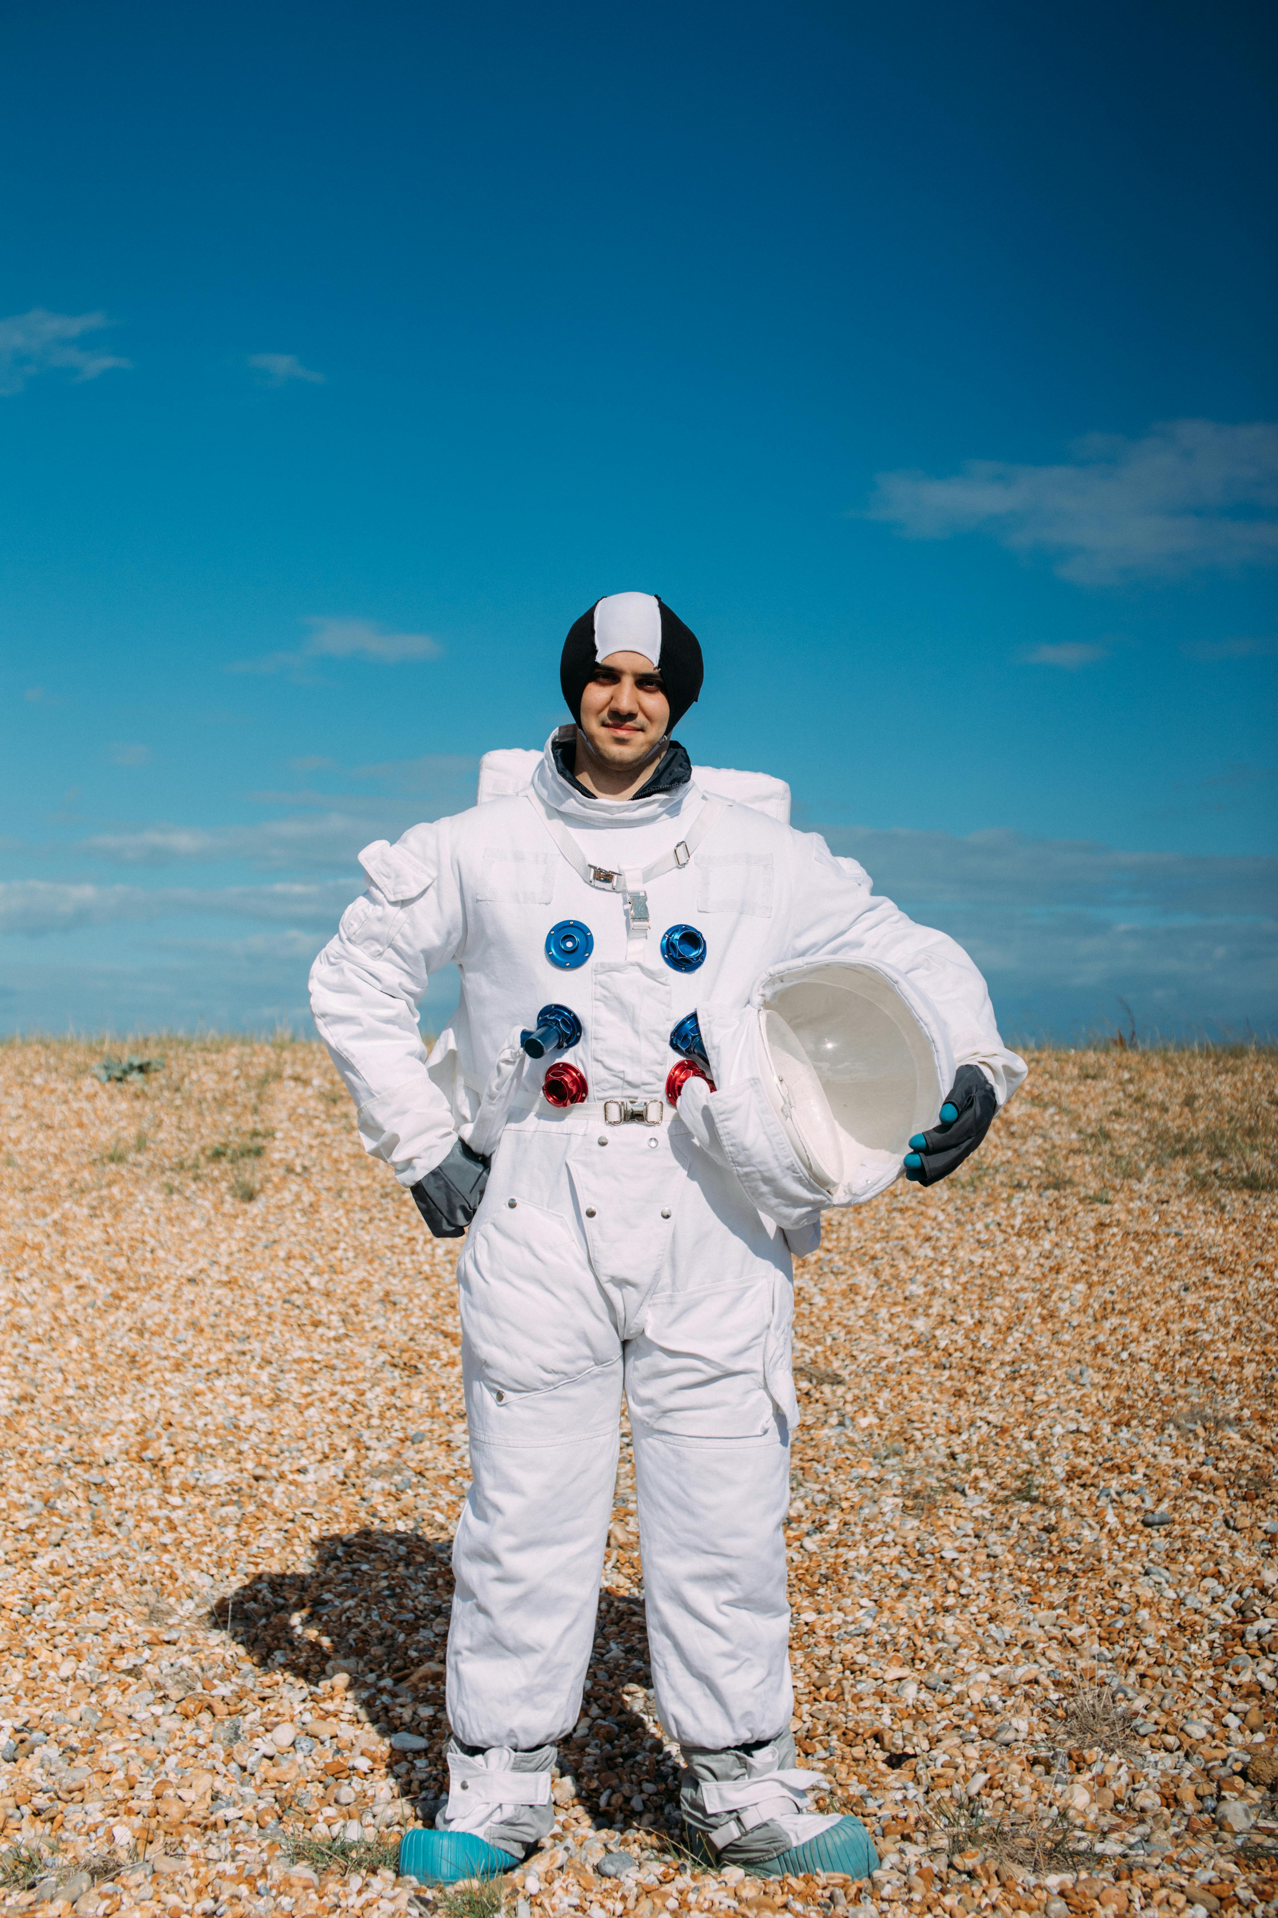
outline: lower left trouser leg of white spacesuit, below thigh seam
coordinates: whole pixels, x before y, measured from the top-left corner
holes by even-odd
[[[494,1400],[464,1350],[471,1490],[452,1544],[448,1719],[531,1751],[577,1724],[617,1483],[621,1358]]]

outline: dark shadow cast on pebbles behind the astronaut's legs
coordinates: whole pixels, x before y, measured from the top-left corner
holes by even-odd
[[[308,1686],[349,1672],[351,1696],[376,1730],[385,1736],[412,1730],[427,1740],[420,1759],[429,1761],[429,1772],[412,1793],[425,1788],[429,1799],[446,1791],[450,1552],[448,1540],[418,1532],[326,1534],[314,1542],[312,1567],[261,1573],[217,1600],[209,1623],[262,1671],[289,1672]],[[655,1776],[648,1726],[632,1709],[634,1686],[650,1682],[644,1602],[600,1592],[584,1709],[598,1707],[598,1743],[605,1749],[590,1766],[584,1742],[565,1740],[559,1770],[573,1772],[579,1803],[604,1824],[619,1814],[613,1811],[619,1799],[625,1820],[632,1822],[630,1801]],[[402,1784],[408,1795],[408,1780]],[[604,1793],[607,1811],[600,1805]]]

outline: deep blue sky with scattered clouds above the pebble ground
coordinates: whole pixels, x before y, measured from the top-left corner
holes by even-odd
[[[301,1022],[630,587],[1008,1030],[1278,1026],[1267,73],[1228,4],[13,17],[0,1026]]]

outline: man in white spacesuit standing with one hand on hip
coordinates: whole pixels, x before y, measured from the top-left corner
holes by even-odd
[[[673,729],[701,648],[669,606],[598,600],[559,679],[573,723],[531,779],[368,846],[368,890],[310,974],[364,1147],[433,1233],[469,1226],[450,1791],[400,1868],[508,1870],[554,1822],[625,1392],[655,1703],[690,1834],[724,1864],[864,1876],[868,1834],[810,1809],[822,1780],[789,1734],[791,1252],[814,1247],[822,1206],[881,1189],[902,1158],[924,1185],[954,1170],[1025,1064],[952,940],[734,798],[743,775],[694,775]],[[448,963],[460,1005],[427,1059],[416,1007]],[[782,1178],[791,1105],[765,1112],[740,1066],[759,980],[835,963],[895,982],[952,1066],[908,1155],[856,1191],[822,1185],[818,1155]]]

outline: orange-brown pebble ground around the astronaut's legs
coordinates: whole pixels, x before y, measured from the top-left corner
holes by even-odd
[[[1037,1053],[797,1270],[793,1730],[874,1880],[678,1853],[623,1448],[554,1837],[431,1897],[456,1247],[318,1047],[136,1049],[0,1053],[4,1908],[1278,1912],[1274,1053]]]

